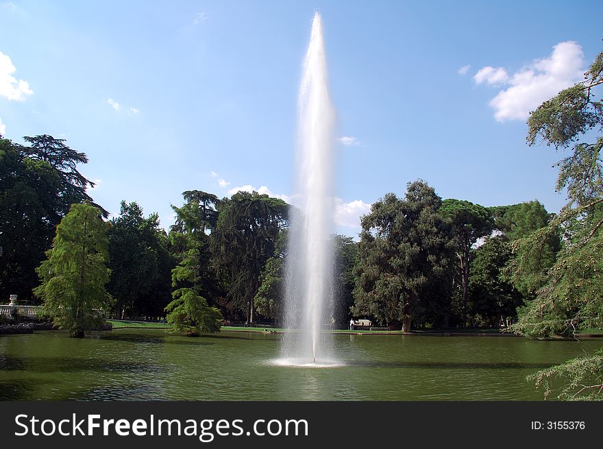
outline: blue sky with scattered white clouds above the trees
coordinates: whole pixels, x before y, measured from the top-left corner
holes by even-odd
[[[65,138],[99,204],[165,227],[185,190],[287,199],[315,9],[339,232],[417,178],[484,206],[565,203],[563,154],[527,147],[525,121],[603,49],[598,1],[0,0],[0,133]]]

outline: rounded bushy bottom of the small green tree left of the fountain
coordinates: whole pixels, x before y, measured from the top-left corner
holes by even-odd
[[[174,300],[165,311],[167,322],[173,325],[174,332],[184,332],[194,337],[202,332],[218,332],[222,324],[222,314],[215,307],[208,306],[205,298],[197,295],[193,288],[177,289]]]

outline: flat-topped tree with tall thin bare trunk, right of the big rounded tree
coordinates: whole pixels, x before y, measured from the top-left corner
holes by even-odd
[[[492,232],[492,217],[484,206],[461,199],[445,199],[441,206],[441,213],[450,219],[454,230],[454,245],[460,272],[460,320],[464,326],[467,321],[471,247],[480,237]]]

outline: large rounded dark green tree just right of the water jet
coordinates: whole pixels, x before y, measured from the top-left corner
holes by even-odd
[[[361,219],[354,315],[410,331],[432,295],[450,297],[450,226],[439,215],[441,198],[422,180],[404,199],[388,193]],[[439,286],[444,290],[440,290]]]

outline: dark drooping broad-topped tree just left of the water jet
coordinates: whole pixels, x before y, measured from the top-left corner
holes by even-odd
[[[235,193],[219,208],[212,254],[228,278],[227,298],[245,311],[249,324],[255,320],[260,274],[275,254],[280,230],[287,226],[288,204],[257,192]]]

